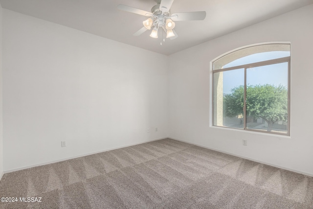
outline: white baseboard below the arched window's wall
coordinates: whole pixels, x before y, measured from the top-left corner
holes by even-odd
[[[295,173],[299,173],[299,174],[303,174],[303,175],[306,175],[306,176],[311,176],[311,177],[313,177],[313,174],[312,174],[312,173],[307,173],[307,172],[303,172],[303,171],[299,171],[299,170],[294,170],[294,169],[290,169],[290,168],[283,167],[283,166],[280,166],[280,165],[276,165],[276,164],[272,164],[272,163],[267,163],[267,162],[255,160],[255,159],[252,159],[252,158],[247,158],[247,157],[240,156],[240,155],[235,155],[235,154],[233,154],[233,153],[224,152],[224,151],[221,151],[221,150],[218,150],[218,149],[214,149],[214,148],[211,148],[211,147],[202,146],[202,145],[195,144],[195,143],[190,143],[189,141],[184,141],[184,140],[180,140],[180,139],[175,139],[175,138],[172,138],[172,137],[168,137],[168,139],[178,140],[178,141],[185,142],[185,143],[188,143],[188,144],[192,144],[192,145],[200,146],[200,147],[203,147],[203,148],[211,149],[211,150],[214,150],[214,151],[217,151],[217,152],[222,152],[222,153],[224,153],[224,154],[228,154],[228,155],[236,156],[236,157],[239,157],[239,158],[243,158],[243,159],[246,159],[246,160],[249,160],[249,161],[254,161],[254,162],[256,162],[256,163],[262,163],[262,164],[270,165],[270,166],[273,166],[273,167],[281,168],[281,169],[284,169],[284,170],[289,170],[289,171],[291,171],[291,172],[295,172]]]

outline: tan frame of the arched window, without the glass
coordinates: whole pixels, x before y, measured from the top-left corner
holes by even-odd
[[[273,44],[277,44],[277,43],[273,43]],[[290,45],[291,47],[291,44],[290,43],[279,43],[279,44],[288,44]],[[260,46],[260,45],[264,45],[264,44],[259,44],[259,45],[253,45],[253,46]],[[271,60],[266,60],[266,61],[261,61],[261,62],[255,62],[255,63],[250,63],[250,64],[244,64],[244,65],[239,65],[239,66],[234,66],[234,67],[229,67],[229,68],[222,68],[222,69],[218,69],[218,70],[214,70],[214,62],[218,61],[219,59],[221,59],[222,57],[224,57],[225,55],[228,55],[230,53],[234,53],[236,51],[239,51],[241,49],[244,49],[244,48],[248,48],[248,47],[253,47],[253,46],[246,46],[246,47],[242,47],[240,49],[236,49],[236,50],[233,50],[233,51],[230,51],[228,53],[225,53],[224,55],[216,58],[215,60],[213,60],[211,63],[211,67],[212,67],[212,96],[211,96],[211,99],[212,99],[212,110],[211,110],[211,113],[212,113],[212,126],[214,127],[222,127],[222,128],[229,128],[229,129],[234,129],[234,130],[241,130],[241,131],[252,131],[252,132],[259,132],[259,133],[267,133],[267,134],[275,134],[275,135],[284,135],[284,136],[290,136],[290,133],[291,133],[291,56],[287,56],[287,57],[282,57],[282,58],[277,58],[277,59],[271,59]],[[291,50],[290,50],[291,51]],[[238,58],[240,59],[240,58]],[[249,68],[255,68],[255,67],[261,67],[261,66],[267,66],[267,65],[273,65],[273,64],[279,64],[279,63],[288,63],[288,87],[287,87],[287,90],[288,90],[288,110],[287,110],[287,113],[288,113],[288,121],[287,121],[287,133],[280,133],[280,132],[272,132],[272,131],[263,131],[263,130],[257,130],[257,129],[249,129],[249,128],[246,128],[246,71],[247,69]],[[215,105],[214,105],[214,93],[215,93],[215,83],[214,83],[214,73],[218,73],[218,72],[224,72],[224,71],[230,71],[230,70],[238,70],[238,69],[244,69],[244,109],[243,109],[243,112],[244,112],[244,127],[243,128],[234,128],[234,127],[227,127],[227,126],[221,126],[221,125],[214,125],[214,118],[215,118]]]

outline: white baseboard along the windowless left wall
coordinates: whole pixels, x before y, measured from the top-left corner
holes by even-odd
[[[114,148],[110,148],[110,149],[105,149],[105,150],[101,150],[101,151],[86,153],[86,154],[83,154],[83,155],[77,155],[77,156],[73,156],[73,157],[69,157],[69,158],[63,158],[63,159],[59,159],[59,160],[55,160],[55,161],[49,161],[49,162],[45,162],[45,163],[38,163],[38,164],[32,164],[32,165],[27,165],[27,166],[23,166],[23,167],[18,167],[18,168],[14,168],[14,169],[10,169],[10,170],[5,170],[4,172],[2,172],[2,175],[4,173],[11,173],[11,172],[14,172],[14,171],[19,171],[19,170],[23,170],[23,169],[27,169],[27,168],[31,168],[31,167],[37,167],[37,166],[46,165],[46,164],[51,164],[51,163],[58,163],[58,162],[61,162],[61,161],[66,161],[66,160],[70,160],[70,159],[80,158],[80,157],[84,157],[84,156],[88,156],[88,155],[93,155],[93,154],[106,152],[106,151],[110,151],[110,150],[114,150],[114,149],[129,147],[129,146],[134,146],[134,145],[137,145],[137,144],[143,144],[143,143],[156,141],[156,140],[160,140],[160,139],[168,139],[168,137],[159,138],[159,139],[151,139],[151,140],[148,140],[148,141],[142,141],[142,142],[128,144],[128,145],[124,145],[124,146],[118,146],[118,147],[114,147]],[[1,175],[1,178],[2,178],[2,175]]]

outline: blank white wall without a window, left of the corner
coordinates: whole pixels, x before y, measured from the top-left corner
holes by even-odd
[[[167,67],[165,55],[3,9],[4,171],[168,137]]]

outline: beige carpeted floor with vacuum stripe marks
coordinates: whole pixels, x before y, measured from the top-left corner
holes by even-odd
[[[162,139],[4,174],[0,197],[41,197],[0,203],[19,209],[313,209],[313,178]]]

